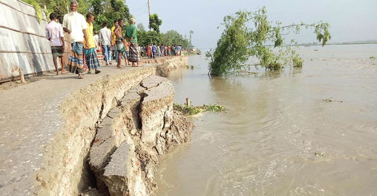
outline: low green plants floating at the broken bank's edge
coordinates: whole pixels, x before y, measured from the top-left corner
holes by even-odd
[[[225,108],[220,105],[186,106],[173,103],[173,109],[182,112],[186,116],[192,116],[204,112],[225,112]]]

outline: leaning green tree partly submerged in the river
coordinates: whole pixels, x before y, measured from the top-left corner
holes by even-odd
[[[301,28],[312,28],[317,40],[324,46],[331,39],[328,31],[330,25],[325,22],[313,24],[291,24],[282,26],[281,22],[267,20],[266,9],[256,12],[239,11],[224,17],[225,29],[217,42],[215,50],[206,53],[210,59],[209,74],[226,75],[247,71],[246,64],[250,57],[259,59],[259,64],[266,70],[279,70],[282,65],[302,66],[303,60],[291,47],[284,47],[284,36],[298,34]],[[273,44],[273,51],[267,44]],[[291,40],[291,44],[295,40]]]

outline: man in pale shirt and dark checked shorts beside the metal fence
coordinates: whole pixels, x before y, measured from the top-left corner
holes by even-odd
[[[56,14],[50,14],[51,22],[46,26],[46,38],[50,41],[51,44],[51,53],[52,53],[52,60],[54,61],[56,75],[59,75],[59,68],[56,58],[59,57],[60,64],[61,64],[61,74],[66,73],[64,71],[64,33],[63,27],[61,24],[56,23]]]

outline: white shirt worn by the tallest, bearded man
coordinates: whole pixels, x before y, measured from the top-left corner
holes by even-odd
[[[69,34],[69,42],[83,42],[84,34],[83,29],[87,29],[85,17],[77,12],[70,12],[64,15],[63,27],[71,31]]]

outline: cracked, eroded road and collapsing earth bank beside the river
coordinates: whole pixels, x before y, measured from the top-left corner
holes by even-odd
[[[158,156],[190,141],[163,77],[187,57],[0,91],[1,195],[155,195]]]

